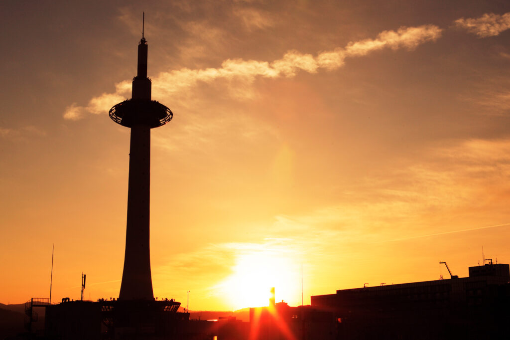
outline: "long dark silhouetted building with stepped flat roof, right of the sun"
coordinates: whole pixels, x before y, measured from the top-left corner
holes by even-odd
[[[508,264],[473,266],[469,277],[337,290],[311,297],[334,313],[338,339],[508,338]]]

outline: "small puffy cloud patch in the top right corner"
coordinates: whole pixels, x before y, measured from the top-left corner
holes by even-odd
[[[455,26],[476,34],[479,38],[493,37],[510,28],[510,12],[503,15],[486,13],[479,18],[460,18]]]

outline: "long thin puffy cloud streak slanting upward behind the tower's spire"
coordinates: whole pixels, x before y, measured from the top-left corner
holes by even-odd
[[[442,30],[434,25],[420,27],[401,27],[397,31],[381,32],[376,39],[365,39],[349,42],[345,48],[337,47],[331,51],[320,52],[317,56],[302,54],[298,51],[288,51],[281,59],[272,62],[243,59],[227,59],[218,68],[189,69],[181,68],[161,72],[152,79],[152,93],[158,98],[164,96],[182,95],[182,93],[198,83],[211,83],[216,80],[241,81],[251,84],[256,78],[295,77],[299,71],[316,73],[319,68],[335,70],[344,65],[346,57],[365,56],[370,52],[382,48],[405,48],[413,50],[418,45],[428,41],[436,41],[441,37]],[[243,93],[252,95],[250,91],[240,91],[239,83],[232,86],[232,95],[242,98]],[[92,98],[86,107],[72,104],[66,108],[64,118],[77,120],[83,116],[83,111],[91,113],[106,113],[129,94],[131,83],[123,81],[116,84],[114,93],[103,93]]]

